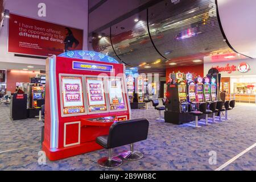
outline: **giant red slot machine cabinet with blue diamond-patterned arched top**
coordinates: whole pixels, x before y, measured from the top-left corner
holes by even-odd
[[[92,51],[70,51],[46,61],[43,151],[59,160],[99,150],[95,140],[130,119],[125,66]]]

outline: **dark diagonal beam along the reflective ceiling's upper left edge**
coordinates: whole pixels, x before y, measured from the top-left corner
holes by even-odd
[[[147,3],[144,3],[143,5],[137,7],[136,9],[131,10],[130,12],[128,12],[128,13],[122,15],[122,16],[119,16],[117,19],[114,19],[112,22],[109,22],[109,23],[105,24],[104,26],[102,26],[100,28],[97,28],[96,30],[94,30],[92,32],[89,32],[89,36],[92,36],[93,32],[101,32],[101,31],[105,30],[106,28],[112,27],[113,25],[115,25],[119,22],[122,22],[123,20],[129,18],[130,16],[133,16],[134,14],[137,14],[137,13],[143,11],[143,10],[146,10],[146,9],[148,9],[148,7],[154,6],[157,3],[162,2],[162,1],[166,1],[166,0],[151,0],[151,1],[148,1]]]

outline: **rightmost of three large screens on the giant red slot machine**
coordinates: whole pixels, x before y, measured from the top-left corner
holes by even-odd
[[[126,109],[125,101],[123,100],[123,84],[121,78],[110,78],[108,80],[108,86],[110,110]]]

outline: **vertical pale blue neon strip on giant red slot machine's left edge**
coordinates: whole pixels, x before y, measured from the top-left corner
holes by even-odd
[[[56,57],[49,59],[49,91],[51,105],[51,149],[57,148],[58,131],[58,113],[57,113],[57,90],[56,90]]]

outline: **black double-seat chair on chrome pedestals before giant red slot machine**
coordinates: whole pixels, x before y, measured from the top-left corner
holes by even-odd
[[[122,158],[138,160],[143,157],[141,152],[134,151],[134,143],[147,139],[149,122],[147,119],[131,119],[115,122],[109,129],[109,135],[96,138],[96,143],[108,149],[108,157],[98,160],[104,168],[121,166],[122,159],[113,157],[113,148],[130,144],[130,151],[121,154]],[[131,132],[132,131],[132,132]]]

